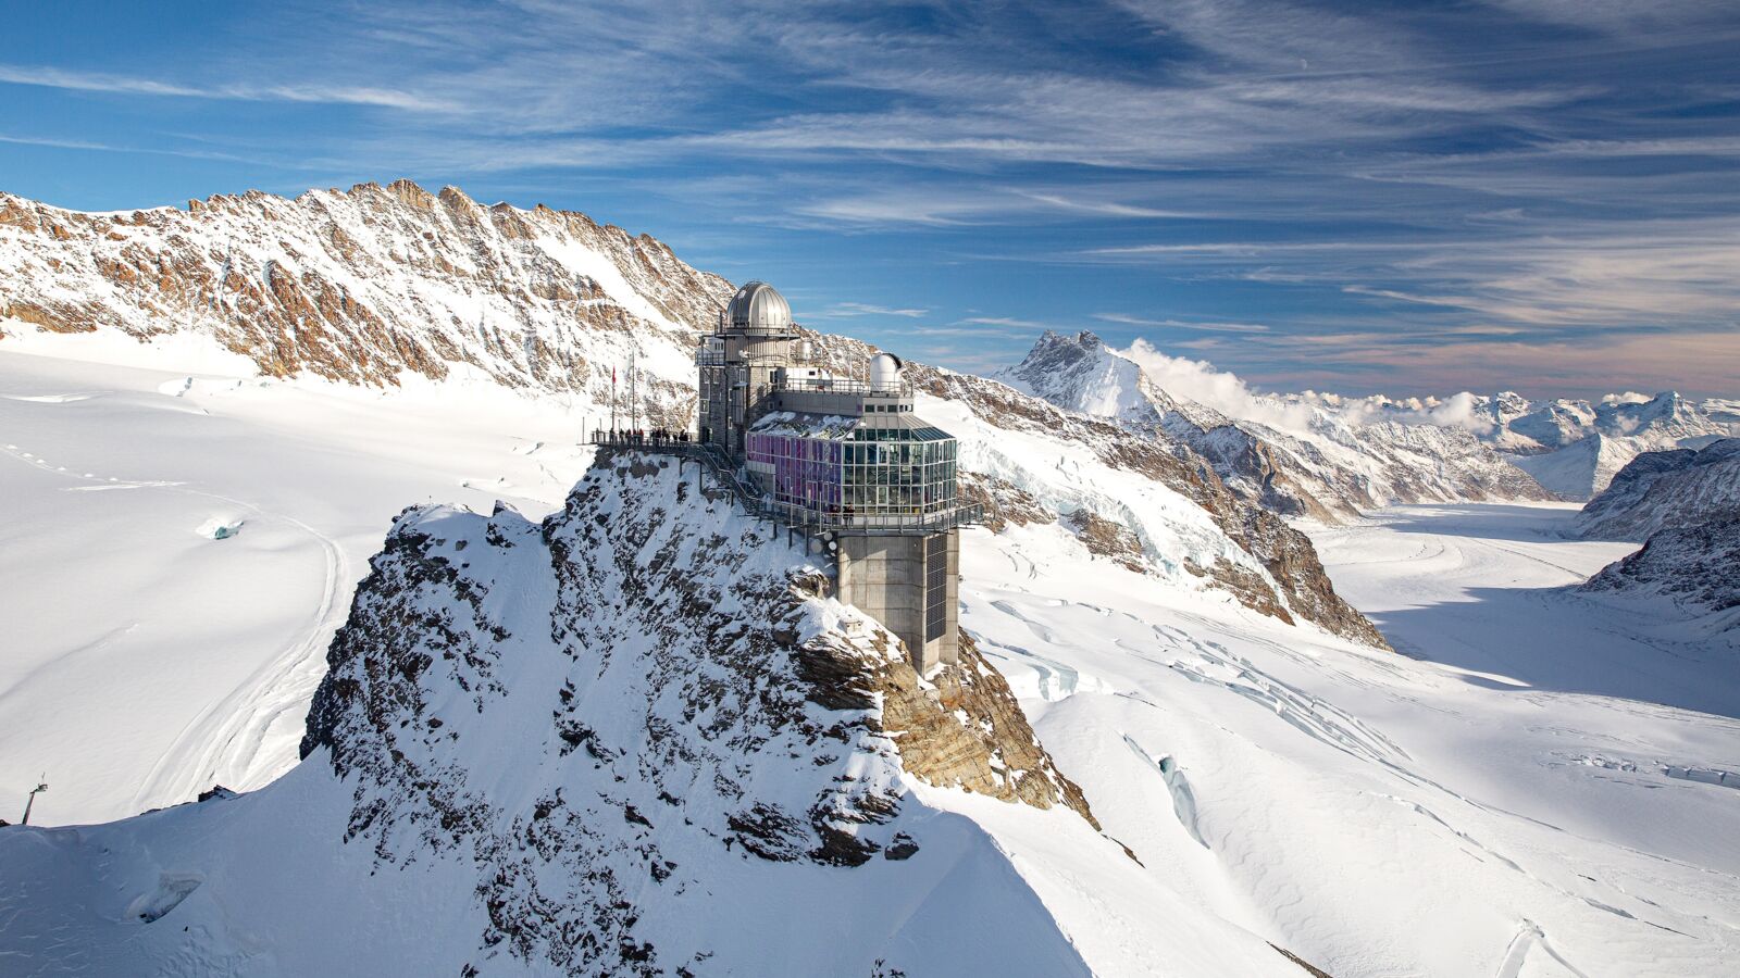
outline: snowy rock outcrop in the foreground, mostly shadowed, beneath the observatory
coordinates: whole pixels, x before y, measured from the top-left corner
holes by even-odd
[[[825,593],[672,459],[407,510],[296,771],[0,835],[9,973],[1298,973],[1098,832],[971,642],[924,682]]]

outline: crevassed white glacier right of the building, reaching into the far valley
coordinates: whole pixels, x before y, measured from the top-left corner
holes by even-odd
[[[1573,513],[1409,506],[1319,533],[1413,658],[1204,604],[1056,527],[964,539],[962,625],[1112,837],[1333,975],[1721,975],[1740,809],[1672,771],[1737,769],[1733,673],[1559,592],[1625,550],[1559,539]],[[1698,675],[1710,713],[1676,705]]]

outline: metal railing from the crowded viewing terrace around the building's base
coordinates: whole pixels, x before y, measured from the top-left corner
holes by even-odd
[[[846,513],[823,512],[797,503],[781,503],[762,492],[760,486],[746,479],[726,449],[713,442],[652,439],[647,435],[611,435],[599,432],[592,444],[609,449],[670,454],[694,459],[712,472],[713,482],[731,492],[740,506],[752,517],[773,520],[806,533],[875,533],[896,536],[922,536],[943,533],[962,526],[985,522],[985,506],[978,503],[957,505],[933,513]]]

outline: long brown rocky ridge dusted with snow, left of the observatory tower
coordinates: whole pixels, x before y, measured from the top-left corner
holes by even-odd
[[[56,332],[209,332],[268,376],[395,385],[470,364],[606,404],[612,365],[687,350],[729,294],[651,237],[411,181],[124,216],[0,193],[0,315]],[[642,385],[651,425],[687,419],[686,376],[651,369]]]

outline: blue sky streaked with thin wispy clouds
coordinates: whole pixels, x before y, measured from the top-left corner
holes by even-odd
[[[983,371],[1740,395],[1740,5],[9,3],[0,188],[407,176]]]

